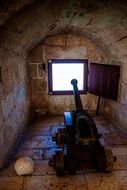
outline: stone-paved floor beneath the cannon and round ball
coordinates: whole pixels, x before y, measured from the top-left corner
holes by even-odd
[[[55,150],[51,134],[55,126],[63,125],[63,118],[51,117],[31,125],[18,151],[0,172],[0,190],[127,190],[127,138],[111,121],[102,117],[94,120],[103,139],[117,156],[111,173],[81,170],[75,176],[57,177],[48,166],[48,159]],[[21,156],[30,156],[34,160],[32,175],[16,174],[14,163]]]

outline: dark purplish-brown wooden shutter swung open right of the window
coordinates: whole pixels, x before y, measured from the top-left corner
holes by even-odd
[[[120,66],[90,63],[88,92],[116,100]]]

